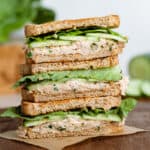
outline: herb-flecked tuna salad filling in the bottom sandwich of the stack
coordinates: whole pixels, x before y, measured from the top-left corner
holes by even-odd
[[[112,123],[113,121],[111,121]],[[41,125],[30,127],[33,132],[40,132],[41,134],[44,133],[57,133],[62,131],[83,131],[83,130],[90,130],[90,129],[97,129],[99,131],[104,125],[107,125],[107,121],[100,121],[100,120],[83,120],[78,117],[68,117],[64,120],[57,120],[52,122],[43,123]],[[116,123],[116,122],[113,122]],[[124,124],[124,121],[117,122],[118,126]],[[26,127],[22,127],[19,130],[19,134],[25,135],[26,134]]]

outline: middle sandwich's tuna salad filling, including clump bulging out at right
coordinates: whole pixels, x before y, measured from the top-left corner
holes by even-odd
[[[84,79],[72,79],[66,82],[51,82],[43,81],[40,83],[30,84],[26,88],[29,91],[36,91],[41,93],[56,94],[56,93],[68,93],[68,92],[86,92],[91,90],[103,90],[108,87],[119,87],[121,95],[125,95],[128,85],[128,78],[123,77],[118,82],[88,82]]]

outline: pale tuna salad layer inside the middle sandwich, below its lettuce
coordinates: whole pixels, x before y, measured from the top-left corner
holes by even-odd
[[[114,83],[117,84],[118,82]],[[110,83],[105,83],[105,82],[88,82],[84,79],[73,79],[66,81],[65,83],[57,83],[57,82],[49,82],[49,81],[43,81],[41,83],[37,84],[31,84],[28,86],[28,90],[31,91],[43,91],[44,93],[58,93],[58,92],[63,92],[63,93],[68,93],[70,91],[90,91],[92,89],[95,90],[102,90],[109,86]],[[119,83],[118,83],[119,84]]]

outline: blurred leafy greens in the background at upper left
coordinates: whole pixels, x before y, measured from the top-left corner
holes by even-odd
[[[42,23],[54,20],[55,15],[53,10],[43,8],[40,1],[0,1],[0,43],[7,41],[11,32],[23,27],[27,22]]]

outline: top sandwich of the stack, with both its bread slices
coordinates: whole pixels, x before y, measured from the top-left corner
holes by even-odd
[[[118,16],[110,15],[27,25],[27,63],[57,62],[59,65],[60,62],[79,61],[82,64],[83,61],[90,63],[102,57],[118,55],[127,42],[126,37],[111,30],[118,27],[119,22]],[[76,63],[72,66],[75,68]],[[32,68],[32,65],[28,67]],[[43,65],[42,68],[47,67]]]

